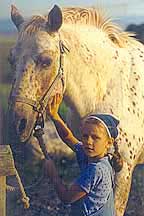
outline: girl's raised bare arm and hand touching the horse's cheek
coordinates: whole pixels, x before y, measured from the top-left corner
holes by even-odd
[[[79,142],[79,140],[73,135],[71,130],[64,123],[63,119],[58,114],[59,105],[62,101],[60,94],[56,94],[52,97],[48,103],[47,111],[53,120],[57,132],[64,143],[66,143],[73,151],[75,151],[74,145]]]

